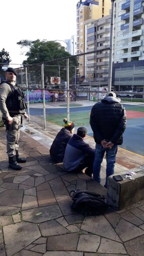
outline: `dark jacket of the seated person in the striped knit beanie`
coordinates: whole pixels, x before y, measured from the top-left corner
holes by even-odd
[[[56,135],[50,149],[51,160],[56,163],[63,162],[66,145],[69,139],[72,138],[72,134],[66,128],[62,128],[61,131]]]

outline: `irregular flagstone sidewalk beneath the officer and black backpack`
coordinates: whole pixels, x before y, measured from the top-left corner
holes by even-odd
[[[143,256],[144,201],[117,212],[108,208],[100,216],[75,213],[71,190],[106,196],[106,189],[52,163],[50,142],[43,145],[46,135],[41,141],[36,129],[31,135],[21,131],[20,152],[27,163],[14,171],[7,166],[5,128],[0,128],[0,256]],[[52,141],[54,134],[45,132]]]

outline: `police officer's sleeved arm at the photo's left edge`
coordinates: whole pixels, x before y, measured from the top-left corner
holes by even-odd
[[[8,95],[11,93],[10,86],[7,84],[2,83],[0,85],[0,111],[3,114],[3,118],[9,118],[9,112],[6,106],[6,100]]]

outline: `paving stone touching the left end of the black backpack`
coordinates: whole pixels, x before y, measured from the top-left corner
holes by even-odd
[[[57,194],[55,194],[55,197],[63,215],[75,213],[75,211],[72,210],[71,208],[71,205],[73,202],[71,197],[69,197],[68,195],[57,195]]]

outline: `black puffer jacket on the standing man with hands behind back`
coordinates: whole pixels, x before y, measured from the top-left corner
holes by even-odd
[[[101,141],[106,139],[115,145],[121,145],[126,120],[126,111],[120,99],[106,97],[96,103],[90,114],[90,125],[95,142],[101,144]]]

